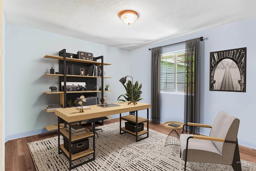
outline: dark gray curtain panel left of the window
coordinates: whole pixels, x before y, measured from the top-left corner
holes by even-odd
[[[151,123],[160,124],[161,48],[151,49]]]

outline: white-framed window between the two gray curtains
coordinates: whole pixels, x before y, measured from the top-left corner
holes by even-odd
[[[160,91],[185,92],[185,50],[161,54]]]

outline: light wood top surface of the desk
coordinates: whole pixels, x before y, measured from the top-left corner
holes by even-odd
[[[129,112],[129,111],[148,109],[151,107],[150,104],[139,103],[139,102],[137,102],[136,105],[133,105],[133,104],[128,105],[128,102],[120,102],[115,104],[119,104],[120,106],[105,108],[105,107],[99,107],[97,105],[90,105],[89,107],[91,109],[84,110],[84,112],[79,112],[79,110],[77,110],[76,107],[69,107],[69,108],[63,108],[63,109],[56,109],[55,114],[60,118],[64,119],[64,121],[67,121],[68,123],[70,123],[70,122],[93,119],[96,117],[114,115],[118,113]]]

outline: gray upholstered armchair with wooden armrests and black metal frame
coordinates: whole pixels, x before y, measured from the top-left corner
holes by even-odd
[[[185,161],[232,165],[234,171],[241,171],[238,149],[238,127],[240,120],[220,111],[213,125],[187,123],[184,126],[211,128],[210,136],[180,135],[180,157]],[[184,127],[183,130],[184,131]]]

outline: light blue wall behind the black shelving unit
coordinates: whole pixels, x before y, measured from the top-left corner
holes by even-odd
[[[43,58],[46,54],[58,56],[66,49],[68,53],[92,52],[94,56],[104,56],[106,76],[104,84],[110,84],[112,92],[106,92],[108,102],[116,102],[124,93],[118,81],[130,74],[128,51],[62,36],[34,28],[6,23],[6,63],[5,63],[5,141],[46,132],[44,126],[57,123],[57,117],[46,113],[48,103],[58,103],[59,95],[45,94],[48,87],[58,87],[58,78],[44,76],[51,66],[58,72],[58,60]],[[100,84],[100,79],[98,79]],[[117,116],[113,116],[117,117]]]

